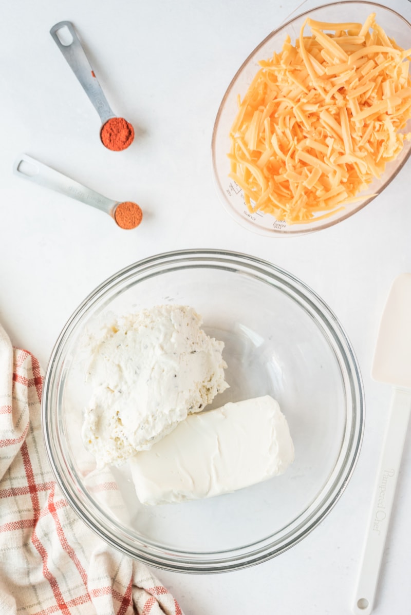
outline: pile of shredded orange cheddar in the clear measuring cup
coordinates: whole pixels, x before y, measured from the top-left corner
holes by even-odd
[[[261,61],[228,154],[249,211],[295,224],[359,199],[411,138],[410,55],[372,13],[364,25],[307,18],[295,46],[287,36]]]

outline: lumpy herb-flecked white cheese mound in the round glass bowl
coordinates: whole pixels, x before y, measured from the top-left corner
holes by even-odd
[[[201,323],[193,308],[162,305],[113,316],[89,336],[82,439],[97,467],[149,449],[228,387],[224,343]]]

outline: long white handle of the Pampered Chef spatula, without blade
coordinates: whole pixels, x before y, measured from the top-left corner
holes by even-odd
[[[394,388],[354,594],[355,615],[369,615],[373,609],[410,410],[411,391]]]

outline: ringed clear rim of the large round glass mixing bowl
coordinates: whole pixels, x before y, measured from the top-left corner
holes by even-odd
[[[302,521],[300,515],[296,520],[282,528],[281,536],[276,539],[270,536],[268,539],[261,539],[233,550],[198,553],[172,550],[169,547],[156,546],[150,542],[136,544],[135,541],[127,537],[126,533],[119,531],[119,527],[114,522],[110,522],[105,517],[103,510],[99,510],[97,504],[95,504],[94,514],[90,515],[87,506],[84,506],[84,502],[81,500],[79,494],[81,488],[73,483],[70,468],[62,455],[58,430],[60,421],[58,401],[61,393],[59,383],[65,360],[65,347],[70,343],[71,333],[76,330],[82,319],[92,311],[99,301],[102,301],[107,295],[115,294],[116,289],[120,291],[127,280],[131,281],[139,273],[150,274],[151,272],[158,275],[163,269],[170,271],[175,268],[207,266],[234,271],[242,268],[242,271],[246,269],[247,272],[256,277],[265,276],[265,281],[271,279],[274,286],[288,289],[290,293],[301,298],[309,306],[311,315],[317,315],[319,321],[325,323],[329,331],[332,332],[340,352],[340,359],[346,366],[351,384],[351,391],[348,391],[347,394],[351,394],[349,398],[352,402],[352,415],[350,417],[350,444],[343,463],[337,473],[334,470],[331,472],[330,478],[320,494],[304,511],[305,517]],[[261,280],[261,277],[259,279]],[[364,391],[357,359],[345,331],[335,314],[308,285],[284,269],[244,253],[211,249],[178,250],[145,258],[113,274],[95,288],[71,315],[55,343],[47,365],[42,395],[42,431],[50,466],[65,498],[76,514],[100,538],[129,557],[157,568],[183,573],[218,573],[245,568],[276,557],[276,555],[281,554],[305,538],[330,512],[345,490],[361,449],[364,432]],[[338,458],[339,461],[340,458]],[[330,482],[332,482],[331,485]],[[322,497],[320,497],[321,494]]]

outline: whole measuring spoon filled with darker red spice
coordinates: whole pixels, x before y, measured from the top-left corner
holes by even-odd
[[[128,148],[134,140],[134,128],[124,117],[114,115],[111,110],[73,24],[58,22],[51,28],[50,34],[100,116],[100,139],[103,145],[111,151]]]

